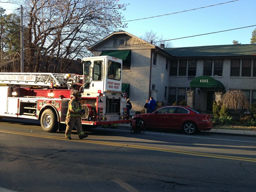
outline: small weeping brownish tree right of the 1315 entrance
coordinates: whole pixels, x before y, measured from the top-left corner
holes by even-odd
[[[237,114],[237,109],[243,108],[247,109],[249,107],[248,99],[243,91],[240,90],[230,90],[226,92],[221,99],[223,106],[234,109]]]

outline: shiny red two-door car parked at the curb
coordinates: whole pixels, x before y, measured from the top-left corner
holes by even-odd
[[[143,113],[132,117],[137,119],[146,129],[183,130],[187,134],[212,129],[211,115],[200,114],[196,110],[184,106],[164,106],[153,113]],[[132,130],[136,127],[132,127]]]

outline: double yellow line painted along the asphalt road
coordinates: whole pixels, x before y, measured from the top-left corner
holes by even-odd
[[[14,132],[14,131],[5,131],[5,130],[0,130],[0,132],[11,133],[11,134],[18,134],[18,135],[26,135],[26,136],[32,136],[32,137],[41,137],[41,138],[55,139],[55,140],[66,140],[63,137],[38,135],[38,134],[33,134],[33,133],[23,133],[23,132]],[[232,160],[239,160],[239,161],[256,162],[256,158],[248,158],[248,157],[217,155],[217,154],[210,154],[210,153],[182,151],[182,150],[157,148],[157,147],[148,147],[148,146],[141,146],[141,145],[130,145],[130,144],[124,144],[124,143],[107,142],[107,141],[68,140],[68,142],[71,142],[71,141],[73,141],[73,142],[92,143],[92,144],[100,144],[100,145],[118,146],[118,147],[127,147],[127,148],[137,148],[137,149],[145,149],[145,150],[153,150],[153,151],[162,151],[162,152],[168,152],[168,153],[179,153],[179,154],[184,154],[184,155],[204,156],[204,157],[212,157],[212,158],[220,158],[220,159],[232,159]]]

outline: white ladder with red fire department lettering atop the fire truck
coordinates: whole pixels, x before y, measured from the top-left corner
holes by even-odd
[[[36,86],[67,86],[68,74],[0,73],[0,83]]]

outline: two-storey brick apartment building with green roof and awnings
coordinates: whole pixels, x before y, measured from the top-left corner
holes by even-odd
[[[88,50],[123,60],[123,90],[133,112],[150,96],[165,105],[187,100],[193,108],[211,111],[212,101],[230,89],[243,90],[250,103],[256,102],[256,44],[160,48],[120,31]]]

